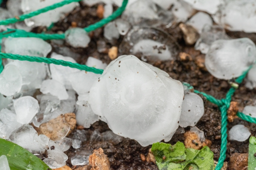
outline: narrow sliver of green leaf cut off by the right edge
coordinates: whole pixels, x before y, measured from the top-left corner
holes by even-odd
[[[248,155],[248,170],[256,169],[256,158],[254,154],[256,153],[256,138],[250,137],[249,140],[249,155]]]

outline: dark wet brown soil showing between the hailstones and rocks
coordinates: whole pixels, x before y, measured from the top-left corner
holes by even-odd
[[[76,22],[78,27],[86,27],[96,21],[99,21],[100,18],[97,17],[96,14],[97,5],[88,7],[81,4],[80,7],[77,7],[71,14],[67,15],[66,18],[54,24],[54,27],[48,33],[60,33],[66,31],[69,27],[71,27],[72,22]],[[73,23],[74,24],[74,23]],[[214,78],[209,72],[205,70],[203,67],[198,66],[198,62],[204,61],[204,55],[200,53],[200,51],[195,51],[193,46],[186,46],[184,40],[182,39],[182,32],[179,27],[174,28],[166,28],[164,25],[159,27],[160,29],[164,29],[164,31],[168,32],[170,35],[174,37],[174,39],[181,46],[181,52],[188,53],[192,61],[183,60],[177,56],[174,61],[157,61],[154,62],[154,66],[166,71],[170,76],[180,82],[188,82],[196,90],[201,92],[205,92],[214,96],[215,98],[221,99],[224,98],[226,92],[230,88],[230,84],[226,80],[220,80]],[[33,29],[34,32],[42,32],[46,28],[45,27],[37,27]],[[256,42],[256,34],[255,33],[244,33],[244,32],[231,32],[227,31],[228,35],[232,38],[240,38],[240,37],[248,37]],[[70,47],[62,40],[53,40],[49,41],[53,46],[53,51],[60,53],[62,55],[73,57],[78,63],[84,64],[88,57],[92,56],[97,59],[102,60],[104,63],[110,63],[111,59],[108,57],[107,49],[112,46],[118,47],[122,42],[123,36],[116,41],[108,41],[103,36],[103,28],[97,29],[96,31],[92,31],[89,33],[91,37],[91,42],[89,43],[87,48],[73,48]],[[97,44],[102,43],[106,48],[106,51],[103,53],[99,53],[97,50]],[[118,55],[123,55],[119,53]],[[129,54],[124,54],[129,55]],[[152,63],[151,63],[152,64]],[[204,62],[202,62],[204,64]],[[201,96],[203,99],[204,97]],[[239,110],[242,111],[243,107],[246,105],[256,104],[256,90],[248,90],[245,88],[244,83],[242,83],[238,90],[236,90],[234,96],[232,97],[232,101],[236,101],[239,104]],[[218,160],[220,155],[220,126],[221,126],[221,117],[220,111],[218,107],[214,104],[206,101],[204,99],[204,116],[197,123],[197,127],[204,131],[204,135],[206,139],[212,141],[212,146],[210,149],[214,152],[214,159]],[[241,120],[240,118],[236,118],[234,122],[228,123],[228,131],[229,129],[236,125],[242,124],[250,129],[252,135],[256,135],[256,124],[248,123],[246,121]],[[87,131],[87,135],[91,134],[92,131],[98,129],[100,132],[104,132],[109,130],[108,125],[102,121],[98,121],[94,123],[89,129],[85,129]],[[189,127],[185,128],[185,131],[189,131]],[[147,129],[145,129],[146,131]],[[72,135],[72,134],[71,134]],[[175,144],[177,141],[184,141],[183,134],[175,134],[171,141],[168,143]],[[124,138],[121,143],[118,145],[113,145],[111,142],[101,142],[96,141],[94,143],[90,143],[89,141],[83,142],[83,148],[85,150],[93,150],[98,148],[104,149],[104,153],[108,155],[110,160],[110,165],[113,170],[157,170],[157,166],[143,162],[140,159],[140,153],[146,155],[151,146],[141,147],[136,141]],[[229,157],[232,153],[248,153],[248,140],[244,142],[236,142],[228,140],[228,149],[226,152],[226,161],[229,160]],[[70,157],[75,154],[75,149],[72,147],[66,151],[69,159],[67,161],[67,165],[72,167],[70,162]],[[73,167],[74,168],[74,167]]]

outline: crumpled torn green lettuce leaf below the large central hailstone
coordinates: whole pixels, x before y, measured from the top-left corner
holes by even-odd
[[[214,170],[213,152],[185,148],[184,144],[154,143],[151,148],[159,170]]]

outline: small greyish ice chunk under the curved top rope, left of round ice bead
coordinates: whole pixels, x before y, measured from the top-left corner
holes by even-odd
[[[116,24],[114,21],[108,23],[104,27],[104,37],[108,40],[118,39],[120,37],[120,34],[118,32],[118,29],[116,28]]]

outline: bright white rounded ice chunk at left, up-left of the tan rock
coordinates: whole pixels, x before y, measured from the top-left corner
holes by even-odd
[[[39,111],[38,101],[31,96],[24,96],[14,101],[14,109],[17,121],[28,124]]]

